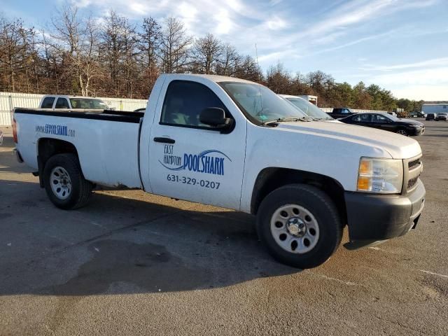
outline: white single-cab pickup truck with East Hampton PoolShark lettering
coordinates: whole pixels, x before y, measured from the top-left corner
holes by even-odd
[[[345,226],[348,246],[366,246],[423,210],[417,141],[311,118],[237,78],[162,75],[144,113],[15,109],[13,133],[56,207],[83,206],[100,184],[244,211],[294,267],[328,260]]]

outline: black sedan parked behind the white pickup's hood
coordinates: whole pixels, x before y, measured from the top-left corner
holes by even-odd
[[[342,123],[378,128],[406,136],[421,135],[425,132],[425,125],[416,120],[405,120],[388,113],[357,113],[340,119]]]

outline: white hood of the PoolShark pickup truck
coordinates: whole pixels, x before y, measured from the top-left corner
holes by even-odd
[[[421,154],[420,145],[414,139],[370,127],[344,123],[325,123],[323,121],[300,121],[279,123],[276,128],[279,131],[327,137],[382,149],[394,159],[414,158],[414,156]]]

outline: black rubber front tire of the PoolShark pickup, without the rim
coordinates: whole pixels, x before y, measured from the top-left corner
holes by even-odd
[[[297,204],[316,219],[320,233],[311,251],[300,254],[286,251],[274,239],[271,219],[286,204]],[[343,226],[335,204],[323,191],[314,186],[290,184],[272,191],[262,200],[257,214],[257,230],[260,240],[274,259],[292,267],[307,269],[323,264],[337,250]]]

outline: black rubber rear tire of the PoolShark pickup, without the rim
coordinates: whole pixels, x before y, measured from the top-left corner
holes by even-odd
[[[50,174],[55,167],[62,167],[69,174],[71,180],[71,191],[69,196],[62,200],[52,190]],[[57,154],[45,163],[43,169],[43,184],[48,198],[59,209],[69,210],[83,207],[92,193],[92,183],[86,181],[81,171],[78,157],[74,154]]]

